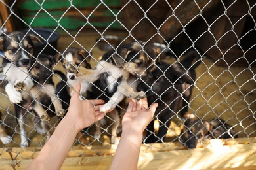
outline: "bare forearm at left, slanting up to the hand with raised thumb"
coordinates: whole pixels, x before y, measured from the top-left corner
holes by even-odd
[[[64,117],[27,169],[60,169],[79,131],[70,119],[72,116]]]

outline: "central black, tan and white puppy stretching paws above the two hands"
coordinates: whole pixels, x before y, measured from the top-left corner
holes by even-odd
[[[84,83],[83,96],[86,99],[104,99],[106,102],[101,112],[110,112],[110,118],[116,121],[112,126],[112,143],[116,142],[119,116],[116,106],[127,97],[140,99],[145,97],[144,92],[135,92],[131,85],[135,85],[136,78],[140,76],[152,76],[147,70],[158,54],[154,46],[145,45],[144,50],[137,42],[131,42],[119,46],[116,51],[107,52],[102,56],[95,69],[79,67],[74,62],[64,65],[77,82]],[[66,57],[64,57],[66,58]],[[73,75],[72,75],[73,74]],[[136,90],[136,88],[135,88]],[[86,92],[86,95],[84,95]],[[92,93],[93,92],[93,93]],[[100,127],[100,124],[97,123]],[[97,128],[95,137],[100,135],[100,128]]]

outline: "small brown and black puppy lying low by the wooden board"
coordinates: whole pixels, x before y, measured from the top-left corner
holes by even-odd
[[[234,128],[220,118],[209,122],[200,120],[195,114],[186,112],[182,117],[184,129],[181,131],[180,140],[187,148],[196,148],[203,139],[228,139],[238,137]]]

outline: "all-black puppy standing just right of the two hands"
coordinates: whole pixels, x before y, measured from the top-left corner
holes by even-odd
[[[195,58],[198,59],[198,56],[188,54],[181,63],[173,65],[161,61],[151,68],[152,78],[143,80],[137,86],[138,91],[146,92],[148,105],[158,103],[154,119],[159,120],[160,128],[158,134],[155,134],[154,120],[150,122],[147,127],[146,143],[164,142],[171,118],[177,115],[182,99],[184,100],[182,110],[187,109],[196,76],[193,72],[198,66],[198,64],[192,66],[188,61],[193,61]]]

